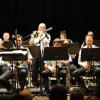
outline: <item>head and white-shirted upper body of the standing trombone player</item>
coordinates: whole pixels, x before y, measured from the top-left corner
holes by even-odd
[[[33,31],[31,39],[29,41],[30,45],[40,46],[41,50],[44,47],[48,47],[50,44],[51,36],[46,32],[45,23],[40,23],[38,26],[38,31]]]

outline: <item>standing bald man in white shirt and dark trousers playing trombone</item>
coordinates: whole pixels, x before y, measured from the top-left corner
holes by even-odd
[[[46,32],[46,24],[40,23],[38,26],[38,31],[33,31],[31,38],[29,40],[30,45],[40,46],[41,49],[41,57],[43,55],[43,51],[45,47],[49,47],[51,41],[51,36]],[[32,66],[32,83],[34,86],[38,87],[38,72],[41,71],[41,58],[36,57],[33,59]]]

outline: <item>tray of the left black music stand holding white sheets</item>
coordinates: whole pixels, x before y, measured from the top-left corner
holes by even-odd
[[[3,49],[0,51],[3,61],[26,61],[28,59],[27,49]]]

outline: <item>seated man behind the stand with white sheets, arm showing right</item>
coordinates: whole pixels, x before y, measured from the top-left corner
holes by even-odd
[[[24,89],[25,85],[28,84],[28,81],[26,79],[28,75],[28,65],[32,64],[33,57],[29,49],[22,46],[22,36],[21,35],[16,36],[15,44],[16,44],[16,48],[27,50],[27,56],[28,56],[27,61],[18,61],[17,63],[19,84],[20,84],[21,89]]]

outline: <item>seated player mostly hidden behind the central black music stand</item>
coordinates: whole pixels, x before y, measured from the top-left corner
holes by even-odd
[[[59,38],[56,38],[53,41],[53,46],[54,47],[61,47],[61,40]],[[56,67],[58,68],[58,79],[60,77],[62,77],[62,84],[64,84],[65,86],[67,85],[67,88],[69,88],[69,72],[67,69],[69,66],[70,69],[74,70],[76,69],[76,66],[70,66],[70,63],[72,62],[72,59],[69,55],[68,60],[57,60],[57,61],[44,61],[44,67],[45,70],[42,72],[42,77],[44,79],[44,87],[45,87],[45,91],[48,92],[49,90],[49,84],[48,84],[48,77],[49,76],[56,76]],[[73,67],[73,68],[72,68]],[[66,70],[67,69],[67,70]],[[68,72],[68,75],[66,77],[66,72]]]

